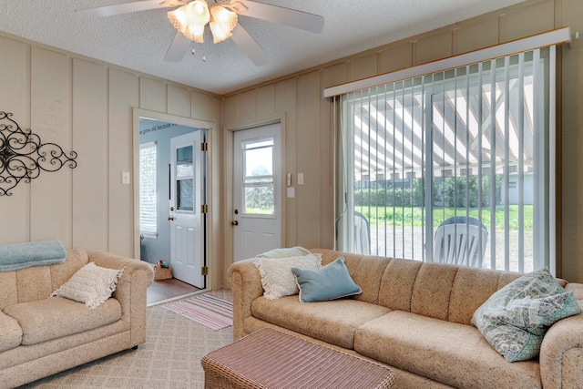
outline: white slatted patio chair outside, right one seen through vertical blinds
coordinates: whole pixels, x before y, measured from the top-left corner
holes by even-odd
[[[434,261],[482,267],[487,239],[486,226],[476,218],[449,218],[435,231]]]

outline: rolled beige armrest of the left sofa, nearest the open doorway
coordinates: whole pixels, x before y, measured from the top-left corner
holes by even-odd
[[[146,342],[146,306],[148,286],[154,280],[152,266],[144,261],[125,258],[107,251],[87,251],[88,260],[108,269],[126,268],[112,297],[121,305],[121,320],[129,322],[131,344]]]

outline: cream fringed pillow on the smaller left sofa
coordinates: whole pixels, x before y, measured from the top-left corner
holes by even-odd
[[[89,262],[49,297],[66,297],[76,302],[85,302],[87,307],[95,309],[116,292],[118,279],[124,269],[107,269]]]

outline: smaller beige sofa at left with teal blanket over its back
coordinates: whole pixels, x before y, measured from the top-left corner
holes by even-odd
[[[47,298],[91,261],[103,268],[125,267],[111,298],[94,310],[64,297]],[[104,251],[69,250],[63,263],[0,272],[0,388],[144,343],[152,279],[148,263]]]

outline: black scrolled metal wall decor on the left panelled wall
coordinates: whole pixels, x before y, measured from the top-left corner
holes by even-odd
[[[0,111],[0,196],[12,196],[10,190],[21,180],[30,182],[41,170],[77,167],[75,151],[66,155],[56,143],[41,143],[30,128],[20,128],[10,117],[12,113]]]

